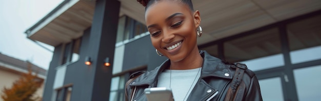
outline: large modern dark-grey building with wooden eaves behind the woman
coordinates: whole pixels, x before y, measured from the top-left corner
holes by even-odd
[[[202,18],[198,47],[246,63],[264,100],[321,98],[321,1],[192,2]],[[66,0],[26,30],[55,47],[44,100],[124,100],[131,73],[166,59],[151,45],[144,12],[135,0]]]

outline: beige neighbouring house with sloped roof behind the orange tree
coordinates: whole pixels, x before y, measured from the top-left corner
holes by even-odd
[[[34,75],[37,74],[39,79],[36,80],[39,81],[39,83],[44,82],[47,73],[45,69],[33,65],[30,62],[0,53],[0,95],[3,95],[4,88],[11,88],[16,80],[21,78],[23,74],[28,73],[28,66],[30,66]],[[33,96],[41,98],[43,96],[44,86],[45,84],[43,83]],[[0,101],[3,101],[1,97]]]

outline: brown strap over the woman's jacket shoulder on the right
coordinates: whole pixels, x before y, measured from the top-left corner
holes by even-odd
[[[240,82],[242,82],[244,71],[247,69],[247,66],[242,63],[235,63],[235,66],[236,66],[235,74],[233,76],[231,85],[227,91],[225,101],[235,100],[234,99],[236,95],[235,91],[237,90],[237,87],[240,84]]]

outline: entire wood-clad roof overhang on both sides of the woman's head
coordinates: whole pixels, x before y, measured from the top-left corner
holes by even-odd
[[[121,2],[119,16],[125,14],[145,24],[145,8],[142,5],[135,0],[118,1]],[[198,45],[321,9],[321,1],[316,0],[192,2],[202,18],[200,26],[203,35],[197,39]],[[82,36],[83,31],[91,26],[95,1],[70,0],[61,6],[49,17],[48,14],[44,21],[28,29],[28,37],[57,46]]]

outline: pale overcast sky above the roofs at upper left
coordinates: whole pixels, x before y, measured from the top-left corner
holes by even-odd
[[[32,42],[24,32],[62,2],[63,0],[0,1],[0,53],[30,60],[48,70],[52,52]],[[51,46],[48,48],[54,49]]]

